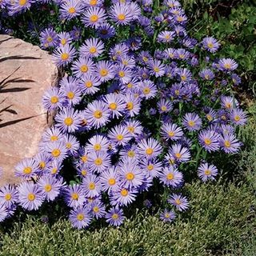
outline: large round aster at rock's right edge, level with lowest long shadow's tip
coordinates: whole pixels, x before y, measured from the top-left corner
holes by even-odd
[[[55,116],[56,127],[59,128],[63,133],[72,133],[79,129],[80,118],[78,112],[73,108],[66,108],[60,111]]]

